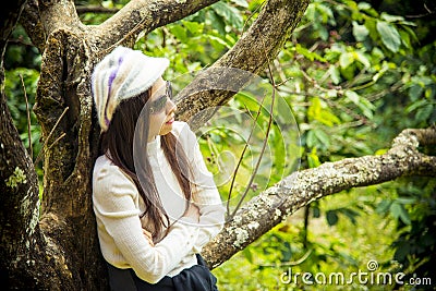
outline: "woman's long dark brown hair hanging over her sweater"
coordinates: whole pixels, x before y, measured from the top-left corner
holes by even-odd
[[[149,110],[147,110],[147,106],[150,102],[147,102],[147,100],[149,99],[149,90],[146,90],[136,97],[132,97],[120,102],[112,116],[109,129],[100,136],[100,154],[105,154],[113,162],[113,165],[118,166],[135,183],[146,207],[141,217],[147,215],[147,218],[152,222],[148,231],[153,233],[153,239],[155,242],[157,242],[167,235],[169,231],[169,217],[164,209],[157,192],[152,167],[146,153],[141,155],[141,161],[143,162],[141,182],[138,175],[136,174],[133,157],[133,138],[135,135],[136,122],[138,121],[140,116],[141,118],[145,118],[145,124],[147,125],[145,126],[145,130],[146,135],[148,135]],[[142,113],[144,107],[145,114],[144,112]],[[186,211],[192,193],[192,184],[190,182],[191,168],[189,166],[186,155],[182,147],[178,145],[178,140],[171,132],[160,136],[160,140],[165,157],[171,166],[171,169],[174,172],[174,175],[185,196]],[[146,142],[147,140],[145,138],[145,150]],[[164,235],[161,235],[164,226],[167,227],[167,231]]]

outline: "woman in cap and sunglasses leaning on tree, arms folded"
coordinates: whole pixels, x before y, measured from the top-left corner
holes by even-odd
[[[174,121],[168,64],[118,47],[93,72],[93,203],[112,290],[217,290],[198,253],[225,208],[195,134]]]

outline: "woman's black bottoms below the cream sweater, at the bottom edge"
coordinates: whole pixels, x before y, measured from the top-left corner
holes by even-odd
[[[218,291],[217,278],[210,272],[206,262],[196,254],[198,265],[183,269],[174,277],[165,276],[152,284],[140,279],[133,269],[119,269],[110,264],[109,284],[111,291]]]

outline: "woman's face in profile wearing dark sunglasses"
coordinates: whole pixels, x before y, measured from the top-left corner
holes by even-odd
[[[156,135],[166,135],[172,130],[177,107],[170,99],[172,93],[168,92],[171,90],[168,86],[169,84],[162,77],[159,77],[152,86],[152,96],[148,100],[152,102],[148,142],[155,140]]]

